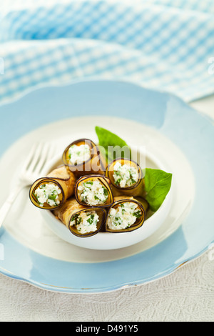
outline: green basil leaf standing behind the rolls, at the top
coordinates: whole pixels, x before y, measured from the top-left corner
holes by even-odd
[[[131,159],[131,149],[123,139],[118,137],[118,135],[98,126],[95,127],[95,131],[98,137],[99,146],[103,147],[108,163],[119,157]]]

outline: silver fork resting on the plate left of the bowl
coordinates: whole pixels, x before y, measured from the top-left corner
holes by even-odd
[[[40,142],[39,144],[34,144],[31,148],[19,174],[18,184],[9,194],[9,197],[7,197],[0,209],[0,227],[19,192],[21,192],[24,187],[33,184],[34,181],[40,177],[42,169],[44,169],[46,162],[53,157],[53,154],[54,146],[49,143]]]

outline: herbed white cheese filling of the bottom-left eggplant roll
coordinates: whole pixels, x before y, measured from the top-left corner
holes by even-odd
[[[74,214],[70,224],[76,225],[78,232],[85,234],[88,232],[95,232],[97,230],[98,221],[98,214],[95,211],[88,211]]]

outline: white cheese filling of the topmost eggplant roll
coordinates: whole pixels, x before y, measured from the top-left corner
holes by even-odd
[[[88,144],[81,144],[80,146],[73,144],[68,149],[68,157],[70,164],[76,166],[76,164],[81,164],[90,159],[91,149]]]

